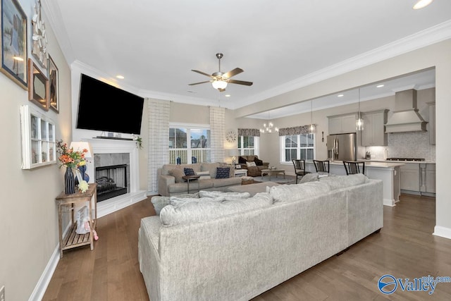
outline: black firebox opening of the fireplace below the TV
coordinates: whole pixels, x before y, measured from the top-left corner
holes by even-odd
[[[97,202],[127,193],[127,164],[96,167]]]

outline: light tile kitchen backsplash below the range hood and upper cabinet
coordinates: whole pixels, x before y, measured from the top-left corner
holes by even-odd
[[[386,156],[400,158],[424,158],[435,161],[435,145],[429,143],[429,132],[388,133],[387,147],[366,147],[374,159],[385,159]]]

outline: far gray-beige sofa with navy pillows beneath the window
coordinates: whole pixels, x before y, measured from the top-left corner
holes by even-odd
[[[203,173],[203,178],[199,180],[200,190],[226,191],[229,186],[240,185],[241,178],[235,178],[234,169],[223,163],[197,163],[197,164],[164,164],[158,169],[158,193],[159,195],[170,197],[172,195],[183,195],[187,193],[187,183],[174,176],[173,171],[182,171],[183,168],[193,168],[196,173]],[[217,168],[230,168],[229,178],[216,178]],[[208,172],[208,176],[205,174]],[[197,183],[190,183],[190,190],[197,191]]]

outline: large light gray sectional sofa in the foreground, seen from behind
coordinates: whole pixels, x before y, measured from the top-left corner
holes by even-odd
[[[362,174],[175,198],[141,221],[140,271],[152,301],[249,300],[382,226],[382,181]]]

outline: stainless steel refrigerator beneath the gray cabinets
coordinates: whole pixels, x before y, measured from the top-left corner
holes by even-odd
[[[327,136],[327,156],[331,161],[356,161],[356,133]]]

